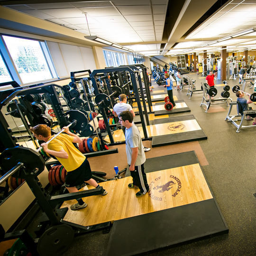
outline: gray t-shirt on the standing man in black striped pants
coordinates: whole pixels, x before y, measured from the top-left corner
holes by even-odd
[[[135,124],[133,124],[132,127],[126,129],[125,140],[126,140],[126,155],[127,155],[128,165],[131,164],[133,147],[138,147],[138,156],[135,162],[135,166],[144,164],[146,161],[144,146],[142,145],[140,133]]]

